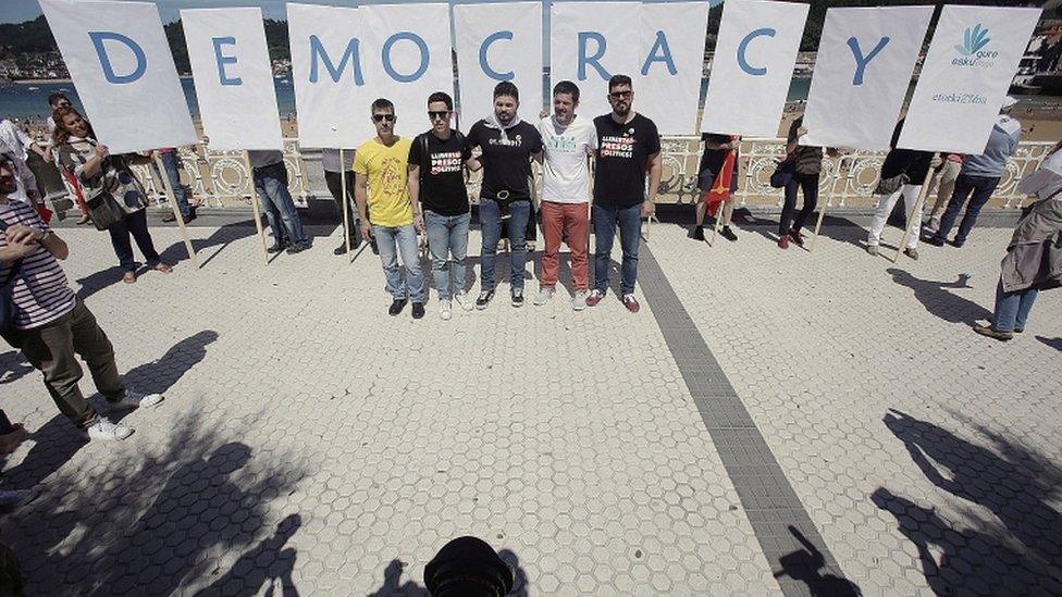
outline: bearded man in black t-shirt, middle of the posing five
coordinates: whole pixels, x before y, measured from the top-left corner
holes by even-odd
[[[480,186],[480,227],[483,250],[480,264],[480,296],[477,309],[486,309],[494,298],[494,262],[502,223],[509,234],[513,307],[523,304],[523,268],[528,262],[524,238],[531,219],[531,159],[542,161],[542,136],[538,127],[516,115],[520,92],[505,80],[494,87],[494,113],[472,125],[471,147],[483,150],[483,183]]]

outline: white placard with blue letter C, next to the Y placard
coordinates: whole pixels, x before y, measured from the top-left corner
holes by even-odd
[[[702,133],[778,135],[806,18],[795,2],[724,4]]]

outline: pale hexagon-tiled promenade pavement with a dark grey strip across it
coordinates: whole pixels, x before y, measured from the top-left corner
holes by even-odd
[[[465,534],[518,595],[1062,593],[1062,291],[1000,344],[970,325],[1009,231],[894,265],[859,227],[813,253],[771,229],[654,224],[638,314],[514,309],[505,281],[448,322],[434,294],[388,316],[379,259],[330,229],[263,268],[254,227],[195,227],[200,271],[133,286],[104,234],[61,229],[127,381],[166,401],[86,444],[0,348],[33,432],[2,487],[41,488],[0,539],[32,595],[420,596]]]

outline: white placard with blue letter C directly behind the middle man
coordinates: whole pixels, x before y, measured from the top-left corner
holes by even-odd
[[[521,115],[534,121],[542,101],[542,4],[454,4],[461,127],[494,110],[494,86],[520,90]],[[548,103],[548,102],[546,102]],[[427,121],[424,121],[427,123]]]

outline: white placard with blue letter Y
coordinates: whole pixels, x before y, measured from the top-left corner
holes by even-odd
[[[802,144],[888,149],[933,7],[830,9]]]

